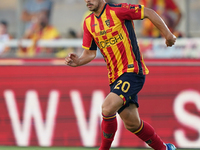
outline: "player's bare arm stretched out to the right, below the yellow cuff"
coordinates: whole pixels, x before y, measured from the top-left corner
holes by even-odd
[[[144,18],[148,18],[163,34],[166,45],[172,46],[176,42],[176,36],[171,33],[163,19],[152,9],[144,7]]]

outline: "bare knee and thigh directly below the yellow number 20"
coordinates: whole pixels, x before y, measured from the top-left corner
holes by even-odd
[[[104,115],[113,115],[123,106],[123,99],[115,93],[109,93],[102,105]]]

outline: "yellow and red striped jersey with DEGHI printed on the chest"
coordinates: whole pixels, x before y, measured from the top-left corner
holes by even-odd
[[[143,5],[106,3],[101,13],[85,18],[82,47],[99,47],[107,63],[110,84],[124,72],[148,74],[140,53],[133,20],[144,18]]]

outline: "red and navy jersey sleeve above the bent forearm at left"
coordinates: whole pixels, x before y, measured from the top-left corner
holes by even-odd
[[[83,23],[83,43],[82,43],[82,47],[86,50],[97,50],[97,45],[94,41],[93,36],[91,35],[91,33],[89,32],[87,26],[86,26],[86,22],[84,21]]]

